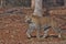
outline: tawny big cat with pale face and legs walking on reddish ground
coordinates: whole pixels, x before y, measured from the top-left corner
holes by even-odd
[[[26,31],[28,37],[32,37],[31,33],[36,30],[36,37],[40,38],[41,30],[43,30],[43,38],[48,35],[48,28],[52,28],[56,33],[58,33],[58,37],[62,37],[62,31],[56,21],[52,16],[37,16],[37,15],[25,15],[25,22],[29,24],[29,29]]]

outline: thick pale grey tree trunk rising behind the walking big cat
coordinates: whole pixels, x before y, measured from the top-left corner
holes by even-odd
[[[35,0],[35,7],[34,7],[34,15],[42,16],[42,0]]]

